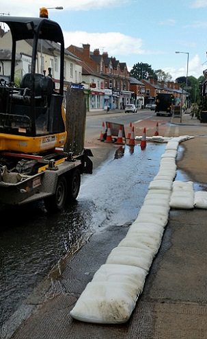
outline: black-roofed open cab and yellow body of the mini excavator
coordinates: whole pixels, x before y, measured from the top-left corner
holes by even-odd
[[[39,154],[64,145],[67,135],[62,105],[64,37],[59,24],[46,18],[17,16],[1,16],[0,20],[8,25],[12,36],[10,82],[0,75],[0,151]],[[16,87],[16,45],[24,40],[31,46],[31,65]],[[42,53],[43,40],[53,43],[54,50],[58,49],[57,89],[50,67],[42,73],[37,71],[38,51],[41,47]]]

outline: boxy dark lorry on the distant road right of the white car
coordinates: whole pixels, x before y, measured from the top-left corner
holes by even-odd
[[[158,93],[156,95],[156,115],[172,115],[174,106],[174,95],[169,93]]]

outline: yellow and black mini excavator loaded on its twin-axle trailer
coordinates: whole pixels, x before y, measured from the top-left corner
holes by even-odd
[[[64,98],[64,37],[46,17],[1,16],[12,36],[9,82],[0,72],[0,204],[44,199],[48,211],[59,211],[79,194],[81,174],[92,174],[90,150],[74,156],[62,146],[67,139]],[[48,40],[59,48],[59,80],[51,71],[36,73],[38,46]],[[14,84],[16,45],[31,43],[29,73]],[[38,45],[39,44],[39,45]],[[56,77],[55,77],[56,78]],[[78,142],[78,141],[77,141]]]

